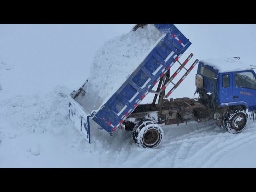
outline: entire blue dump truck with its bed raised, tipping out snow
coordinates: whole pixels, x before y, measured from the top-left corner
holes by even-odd
[[[137,24],[133,30],[145,25]],[[76,129],[90,143],[90,121],[93,120],[110,135],[117,129],[131,131],[134,142],[142,148],[160,146],[164,138],[161,124],[179,125],[192,120],[216,120],[218,126],[230,133],[244,130],[248,122],[246,110],[252,112],[252,118],[255,118],[256,74],[252,67],[240,64],[239,58],[231,58],[231,61],[226,63],[225,60],[199,62],[196,59],[186,68],[193,54],[184,62],[180,62],[180,57],[191,45],[189,39],[173,24],[154,26],[164,35],[163,38],[118,91],[98,110],[88,111],[86,106],[83,106],[88,80],[70,94],[69,118]],[[174,64],[180,66],[176,71],[172,71]],[[168,100],[196,64],[198,71],[195,85],[199,98]],[[185,72],[184,76],[174,83],[174,78],[182,70]],[[152,90],[156,84],[157,89]],[[166,87],[169,85],[172,85],[172,88],[166,93]],[[149,93],[155,95],[152,104],[140,104]]]

